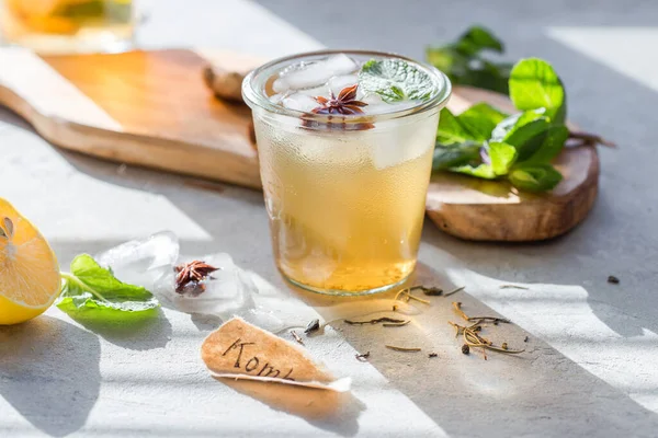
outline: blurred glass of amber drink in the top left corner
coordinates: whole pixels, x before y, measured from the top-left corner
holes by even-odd
[[[115,51],[133,37],[132,0],[0,0],[9,43],[39,53]]]

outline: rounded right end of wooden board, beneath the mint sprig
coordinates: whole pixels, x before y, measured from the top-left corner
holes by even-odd
[[[465,87],[455,89],[449,108],[461,113],[477,102],[513,111],[506,96]],[[546,194],[519,193],[506,182],[434,174],[428,189],[428,215],[443,231],[467,240],[524,242],[564,234],[593,206],[599,155],[594,147],[565,149],[555,165],[564,180]]]

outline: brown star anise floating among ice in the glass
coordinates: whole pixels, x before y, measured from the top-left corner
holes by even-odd
[[[359,84],[354,84],[351,87],[345,87],[338,93],[338,96],[331,93],[331,97],[327,99],[325,96],[314,97],[317,103],[320,105],[316,108],[311,110],[314,114],[329,114],[329,115],[338,115],[338,116],[350,116],[355,114],[363,114],[363,107],[367,106],[367,103],[356,100],[356,90],[359,89]],[[331,117],[329,117],[331,118]],[[345,123],[344,118],[339,118],[340,122],[329,122],[326,124],[320,124],[315,120],[306,119],[304,120],[304,126],[306,127],[327,127],[329,129],[344,129],[344,130],[363,130],[363,129],[372,129],[374,125],[371,123]]]

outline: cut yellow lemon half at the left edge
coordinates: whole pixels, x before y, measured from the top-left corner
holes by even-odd
[[[0,198],[0,324],[42,314],[60,289],[59,265],[48,242]]]

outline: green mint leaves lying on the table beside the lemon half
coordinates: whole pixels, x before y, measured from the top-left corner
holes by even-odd
[[[71,272],[63,273],[63,292],[57,307],[67,313],[106,319],[116,312],[151,315],[159,303],[141,286],[120,281],[111,269],[101,267],[91,255],[82,254],[71,262]]]

